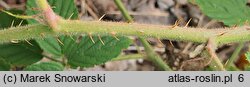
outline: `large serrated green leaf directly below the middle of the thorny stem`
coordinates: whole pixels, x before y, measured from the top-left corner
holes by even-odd
[[[119,40],[116,40],[112,36],[103,36],[104,45],[98,36],[93,37],[95,43],[87,36],[82,37],[79,43],[72,39],[61,39],[65,42],[63,51],[70,65],[73,67],[92,67],[119,56],[121,50],[127,48],[132,42],[127,37],[118,38]]]

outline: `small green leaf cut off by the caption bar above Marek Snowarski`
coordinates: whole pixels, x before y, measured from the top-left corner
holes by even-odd
[[[32,64],[27,66],[25,71],[63,71],[64,67],[62,64],[57,62],[42,62],[39,64]]]

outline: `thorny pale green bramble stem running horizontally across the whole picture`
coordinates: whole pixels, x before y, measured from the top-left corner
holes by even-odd
[[[154,37],[197,43],[206,43],[208,38],[214,38],[217,45],[250,40],[250,31],[246,27],[208,30],[202,28],[171,28],[171,26],[164,25],[78,20],[60,20],[58,27],[59,30],[56,32],[42,24],[0,30],[0,43],[10,42],[11,40],[38,39],[48,37],[48,35],[80,35],[90,32],[100,35],[110,35],[111,32],[115,32],[116,35]],[[220,35],[221,32],[227,33]]]

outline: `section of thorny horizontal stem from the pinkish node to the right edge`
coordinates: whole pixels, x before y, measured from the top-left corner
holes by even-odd
[[[119,23],[119,22],[85,22],[85,21],[62,21],[59,23],[61,31],[65,33],[82,34],[92,32],[93,34],[109,34],[115,32],[117,35],[154,37],[176,41],[191,41],[205,43],[209,38],[214,38],[215,44],[227,44],[232,42],[250,40],[250,31],[245,27],[236,29],[202,29],[183,28],[163,25]],[[225,33],[224,33],[225,32]],[[221,33],[224,33],[221,35]]]

